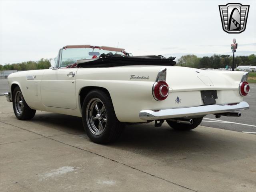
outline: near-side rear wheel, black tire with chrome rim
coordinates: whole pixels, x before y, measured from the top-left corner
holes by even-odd
[[[116,141],[125,125],[116,118],[112,100],[102,90],[92,90],[87,94],[82,106],[82,122],[90,140],[99,144]]]

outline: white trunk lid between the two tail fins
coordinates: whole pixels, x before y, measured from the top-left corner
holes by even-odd
[[[166,82],[173,92],[196,90],[238,90],[243,72],[207,71],[166,66]]]

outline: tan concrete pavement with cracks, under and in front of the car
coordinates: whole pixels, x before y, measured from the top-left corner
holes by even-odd
[[[252,191],[256,135],[166,123],[127,126],[90,142],[78,117],[36,112],[17,120],[0,97],[0,191]]]

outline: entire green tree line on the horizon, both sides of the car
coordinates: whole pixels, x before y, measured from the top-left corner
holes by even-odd
[[[226,68],[232,66],[232,56],[230,55],[217,55],[197,57],[196,55],[184,55],[177,61],[177,66],[186,66],[192,68]],[[236,56],[235,67],[240,65],[256,65],[256,56],[251,54],[249,56]],[[0,70],[35,70],[35,69],[48,69],[50,67],[49,59],[40,59],[39,61],[27,61],[22,63],[0,65]]]

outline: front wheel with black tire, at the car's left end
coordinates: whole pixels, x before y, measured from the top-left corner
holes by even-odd
[[[19,102],[21,102],[21,104]],[[12,93],[12,107],[16,118],[19,120],[32,119],[36,114],[36,110],[31,109],[26,103],[20,87],[14,88]]]

